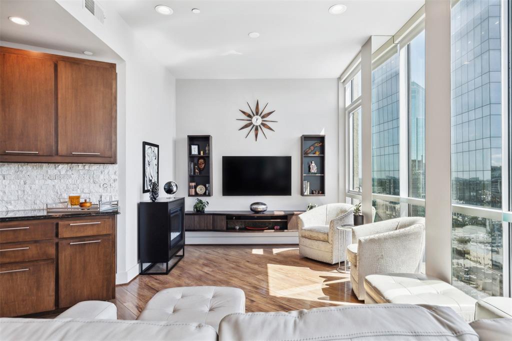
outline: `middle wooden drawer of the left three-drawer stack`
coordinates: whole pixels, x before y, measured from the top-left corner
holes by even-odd
[[[55,259],[55,241],[0,244],[0,264]]]

